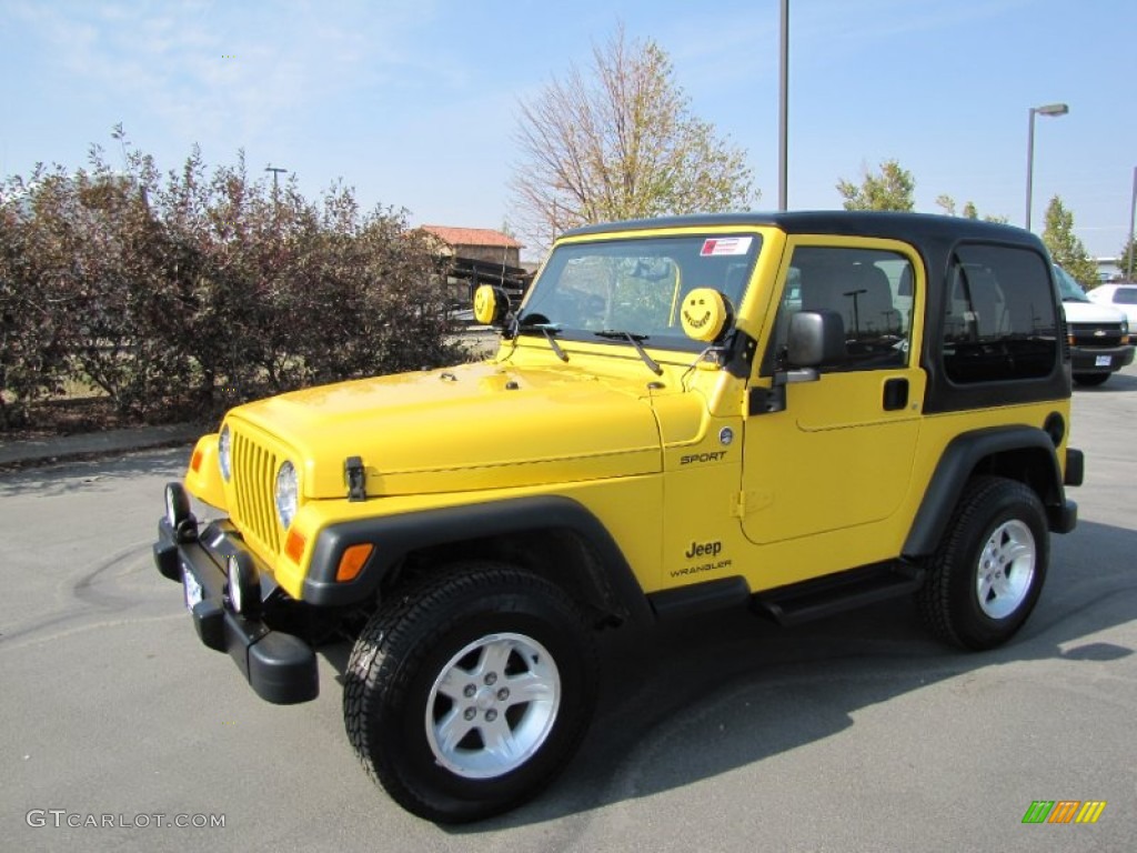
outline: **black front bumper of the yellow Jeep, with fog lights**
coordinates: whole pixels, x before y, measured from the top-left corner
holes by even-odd
[[[166,517],[158,523],[155,564],[163,577],[182,583],[201,641],[227,652],[249,686],[267,702],[291,705],[316,698],[319,681],[312,647],[294,635],[269,628],[264,619],[233,612],[224,566],[238,553],[256,561],[229,521],[210,522],[200,531],[197,523],[183,522],[176,529]],[[266,597],[266,605],[272,597]]]

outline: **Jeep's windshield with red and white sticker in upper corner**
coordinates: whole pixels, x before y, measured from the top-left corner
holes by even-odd
[[[713,288],[737,309],[761,243],[757,234],[698,234],[558,246],[525,300],[521,331],[548,324],[561,338],[622,343],[596,336],[619,331],[650,347],[699,350],[679,323],[683,297]]]

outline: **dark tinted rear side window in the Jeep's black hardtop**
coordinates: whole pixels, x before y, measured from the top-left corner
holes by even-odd
[[[1045,260],[1026,249],[955,250],[944,300],[944,368],[954,382],[1049,375],[1059,320]]]

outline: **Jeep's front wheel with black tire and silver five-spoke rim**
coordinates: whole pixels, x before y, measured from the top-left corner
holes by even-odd
[[[576,604],[496,563],[429,577],[383,604],[345,674],[348,737],[408,811],[439,822],[512,809],[567,764],[596,704]]]

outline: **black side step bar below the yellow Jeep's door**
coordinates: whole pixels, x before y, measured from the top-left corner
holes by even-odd
[[[781,626],[795,626],[914,593],[923,583],[919,566],[882,563],[758,593],[752,606]]]

